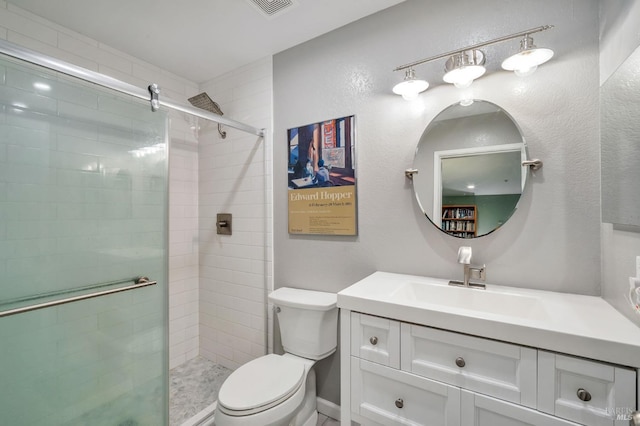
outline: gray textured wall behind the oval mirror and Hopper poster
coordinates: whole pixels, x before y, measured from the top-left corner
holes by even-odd
[[[311,18],[310,18],[311,19]],[[393,95],[403,63],[544,24],[556,57],[529,78],[499,70],[518,42],[485,49],[488,75],[469,89],[439,84],[442,62],[420,66],[432,87]],[[472,30],[470,30],[472,29]],[[429,121],[466,96],[520,125],[544,168],[497,232],[465,241],[489,282],[600,294],[598,5],[595,0],[408,0],[274,57],[274,286],[337,292],[376,270],[460,278],[460,240],[422,215],[403,171]],[[356,114],[357,237],[287,233],[286,130]],[[319,366],[319,395],[339,403],[338,358]]]

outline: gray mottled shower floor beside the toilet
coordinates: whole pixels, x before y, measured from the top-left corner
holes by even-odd
[[[169,372],[169,425],[180,426],[218,399],[232,370],[196,357]]]

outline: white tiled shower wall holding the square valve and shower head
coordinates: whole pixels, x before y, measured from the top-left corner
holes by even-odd
[[[225,116],[270,129],[271,82],[272,61],[266,58],[201,88]],[[200,353],[237,368],[267,350],[271,137],[225,130],[221,139],[216,125],[205,125],[199,142]],[[233,235],[216,234],[218,213],[233,214]]]

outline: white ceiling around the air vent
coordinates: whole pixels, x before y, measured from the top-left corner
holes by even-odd
[[[294,0],[272,17],[249,0],[7,1],[202,83],[404,0]]]

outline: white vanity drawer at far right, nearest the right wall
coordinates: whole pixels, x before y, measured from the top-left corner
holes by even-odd
[[[539,410],[589,426],[629,424],[635,370],[545,351],[538,353],[538,370]]]

